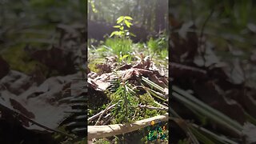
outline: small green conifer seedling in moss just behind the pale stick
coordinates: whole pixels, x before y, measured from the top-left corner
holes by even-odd
[[[159,110],[139,109],[137,107],[139,104],[155,107],[158,107],[158,105],[149,94],[138,94],[138,90],[134,89],[129,81],[111,80],[109,90],[111,92],[109,95],[111,101],[118,102],[118,105],[112,110],[114,115],[113,124],[134,122],[165,113]]]

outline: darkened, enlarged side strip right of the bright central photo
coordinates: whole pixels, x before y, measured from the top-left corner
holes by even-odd
[[[173,143],[255,142],[254,7],[169,1]]]

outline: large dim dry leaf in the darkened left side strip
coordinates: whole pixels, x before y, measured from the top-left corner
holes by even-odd
[[[10,73],[13,74],[14,72]],[[19,81],[22,77],[21,73],[14,73],[6,75],[2,78],[0,85],[5,85],[5,89],[0,91],[0,102],[11,110],[18,110],[20,113],[25,114],[35,122],[44,126],[56,129],[59,124],[68,116],[71,107],[66,102],[59,102],[60,99],[70,97],[73,94],[82,94],[82,91],[70,90],[70,94],[66,94],[66,90],[78,89],[78,79],[81,74],[66,75],[64,77],[53,77],[46,79],[40,86],[35,84],[20,84]],[[9,83],[9,86],[8,86]],[[10,85],[12,83],[12,85]],[[81,83],[80,83],[81,84]],[[23,87],[22,87],[23,86]],[[13,88],[12,88],[13,87]],[[14,89],[15,87],[15,89]],[[17,91],[16,91],[17,90]],[[30,130],[43,130],[41,127],[32,125],[30,122],[22,121],[22,124]]]

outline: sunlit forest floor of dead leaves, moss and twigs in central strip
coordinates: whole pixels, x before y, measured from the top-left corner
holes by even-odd
[[[147,43],[132,43],[129,51],[112,50],[106,43],[97,48],[89,46],[88,126],[92,127],[88,129],[88,137],[90,131],[97,126],[133,123],[167,114],[168,53],[161,55],[162,51],[152,52],[152,49],[147,47],[157,41],[151,39]],[[162,129],[165,126],[165,130],[162,130],[165,136],[162,140],[158,138],[158,141],[168,142],[167,118],[165,121],[158,118],[154,121],[154,126],[150,125],[150,119],[146,121],[146,125],[144,122],[142,126],[134,126],[133,130],[124,128],[119,134],[110,134],[112,137],[108,139],[94,141],[150,142],[153,141],[153,138],[150,139],[150,130],[154,129],[153,127]],[[101,132],[104,133],[104,130]],[[106,135],[102,134],[102,137],[104,136]]]

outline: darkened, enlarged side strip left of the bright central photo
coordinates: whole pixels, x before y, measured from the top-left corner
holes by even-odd
[[[86,1],[0,1],[0,143],[86,135]]]

